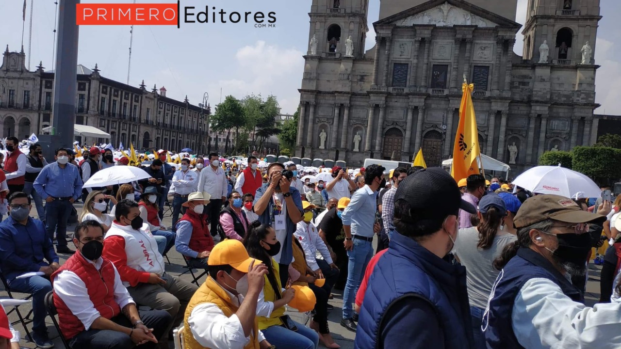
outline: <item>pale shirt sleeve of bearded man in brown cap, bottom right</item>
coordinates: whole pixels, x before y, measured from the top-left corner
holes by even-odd
[[[522,286],[511,320],[518,342],[529,349],[621,347],[620,301],[587,307],[545,278],[530,279]]]

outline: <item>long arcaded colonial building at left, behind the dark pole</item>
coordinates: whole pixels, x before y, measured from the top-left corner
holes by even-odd
[[[7,45],[0,66],[0,124],[2,137],[25,139],[43,134],[52,122],[54,71],[42,64],[36,71],[24,65],[25,54],[9,52]],[[130,86],[105,78],[97,65],[91,70],[78,65],[76,77],[76,124],[97,127],[111,138],[79,138],[84,144],[111,142],[137,149],[165,148],[179,152],[191,148],[207,152],[209,107],[194,106],[166,97],[166,89],[150,91],[144,81]]]

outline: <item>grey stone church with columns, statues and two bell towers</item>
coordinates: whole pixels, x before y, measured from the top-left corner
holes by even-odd
[[[599,0],[529,0],[524,57],[517,0],[313,0],[296,156],[451,158],[463,77],[474,83],[481,152],[512,166],[596,141]],[[518,43],[521,45],[522,43]],[[517,172],[516,172],[517,171]]]

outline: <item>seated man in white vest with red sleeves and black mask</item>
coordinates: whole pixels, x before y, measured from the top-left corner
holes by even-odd
[[[196,285],[165,273],[164,259],[148,225],[140,218],[137,202],[119,201],[115,214],[104,239],[103,256],[114,263],[138,304],[166,310],[174,319],[172,326],[178,326]]]

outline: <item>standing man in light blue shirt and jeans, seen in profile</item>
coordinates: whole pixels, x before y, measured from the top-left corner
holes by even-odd
[[[370,165],[365,169],[365,186],[353,194],[341,215],[345,230],[344,244],[349,258],[341,326],[351,332],[356,332],[355,313],[351,304],[362,282],[366,265],[373,256],[373,235],[381,230],[379,223],[375,221],[376,196],[378,190],[386,186],[385,170],[386,168],[379,165]]]

